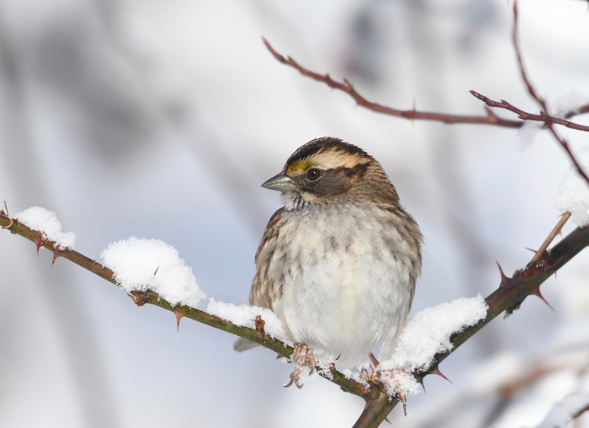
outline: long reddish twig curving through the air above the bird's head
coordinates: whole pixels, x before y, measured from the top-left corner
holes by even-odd
[[[320,74],[315,71],[311,71],[308,68],[303,67],[298,62],[296,62],[291,57],[284,57],[283,55],[279,54],[276,49],[270,45],[270,43],[262,38],[264,45],[272,54],[274,58],[278,61],[282,62],[282,64],[289,65],[290,67],[298,70],[300,74],[303,76],[312,78],[318,82],[323,82],[327,86],[333,89],[338,89],[339,91],[345,92],[350,97],[356,101],[356,104],[367,108],[368,110],[375,111],[377,113],[387,114],[390,116],[402,117],[409,120],[421,119],[421,120],[432,120],[438,122],[444,122],[446,124],[458,124],[458,123],[470,123],[470,124],[487,124],[487,125],[497,125],[499,127],[508,127],[508,128],[519,128],[522,126],[522,122],[520,121],[513,121],[507,120],[498,117],[494,114],[490,109],[485,109],[487,115],[485,116],[469,116],[469,115],[454,115],[454,114],[443,114],[443,113],[436,113],[436,112],[428,112],[428,111],[417,111],[415,108],[412,110],[399,110],[392,107],[386,107],[386,105],[378,104],[376,102],[368,101],[368,99],[364,98],[362,95],[356,91],[353,85],[350,83],[348,79],[343,79],[343,81],[339,82],[329,74]]]

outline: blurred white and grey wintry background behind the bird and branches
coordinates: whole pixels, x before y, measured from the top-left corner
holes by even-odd
[[[587,2],[522,0],[520,39],[551,112],[589,102]],[[264,48],[397,108],[484,114],[469,89],[539,109],[511,44],[511,2],[0,1],[0,200],[55,211],[76,250],[158,238],[216,300],[245,303],[280,207],[260,184],[330,135],[382,162],[425,235],[413,311],[497,288],[560,214],[570,168],[538,124],[406,121],[356,107]],[[515,118],[508,112],[497,114]],[[583,122],[585,118],[576,117]],[[558,128],[574,151],[587,135]],[[567,224],[564,233],[573,229]],[[0,233],[0,426],[352,426],[363,402],[319,379],[283,389],[266,349],[136,307],[112,284]],[[425,379],[397,427],[521,427],[589,389],[589,254]],[[203,306],[206,307],[206,302]],[[386,424],[386,423],[385,423]],[[577,427],[589,427],[585,415]]]

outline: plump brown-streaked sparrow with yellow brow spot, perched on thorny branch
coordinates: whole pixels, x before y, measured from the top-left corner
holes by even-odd
[[[359,364],[392,349],[421,274],[423,236],[382,165],[322,137],[299,147],[262,187],[282,193],[256,251],[248,304],[270,308],[294,344],[290,382],[313,350]],[[239,339],[234,349],[252,347]]]

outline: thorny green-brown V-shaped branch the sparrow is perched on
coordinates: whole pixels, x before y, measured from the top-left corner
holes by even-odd
[[[117,284],[114,279],[114,273],[107,267],[102,266],[97,261],[71,250],[59,250],[52,241],[43,241],[42,234],[39,231],[31,230],[27,226],[14,220],[0,210],[0,225],[14,234],[19,234],[22,237],[33,241],[37,248],[45,247],[54,254],[54,260],[58,257],[66,258],[78,266],[81,266],[101,278],[104,278],[112,284]],[[528,263],[524,269],[516,271],[513,278],[508,278],[501,271],[501,283],[499,288],[495,290],[485,301],[489,306],[487,316],[484,320],[474,326],[468,327],[461,333],[456,333],[451,337],[453,348],[445,353],[437,354],[432,369],[425,373],[414,373],[419,381],[428,374],[436,373],[438,365],[446,359],[456,348],[463,344],[478,330],[482,329],[489,321],[497,317],[503,311],[512,311],[514,307],[518,307],[526,297],[535,295],[542,298],[540,294],[540,284],[547,280],[558,269],[564,266],[571,258],[576,256],[583,248],[589,246],[589,227],[576,228],[567,237],[563,238],[560,243],[555,245],[550,251],[546,251],[539,260]],[[187,317],[207,326],[214,327],[219,330],[227,331],[236,336],[244,337],[252,340],[260,345],[273,350],[284,357],[290,357],[293,353],[292,347],[284,346],[280,340],[272,339],[271,337],[262,337],[259,331],[249,329],[247,327],[237,327],[229,321],[224,321],[219,317],[211,316],[204,311],[191,308],[188,306],[172,307],[170,303],[158,296],[154,291],[138,292],[134,291],[133,300],[138,306],[143,306],[145,303],[159,306],[176,314],[176,317]],[[543,298],[542,298],[543,299]],[[354,425],[356,428],[362,427],[377,427],[385,417],[391,412],[393,407],[398,403],[398,399],[389,401],[389,397],[376,387],[366,389],[366,387],[351,379],[346,379],[342,373],[332,369],[330,370],[333,383],[342,387],[342,389],[355,394],[365,400],[366,406],[360,415],[358,421]],[[329,377],[325,374],[321,376]]]

